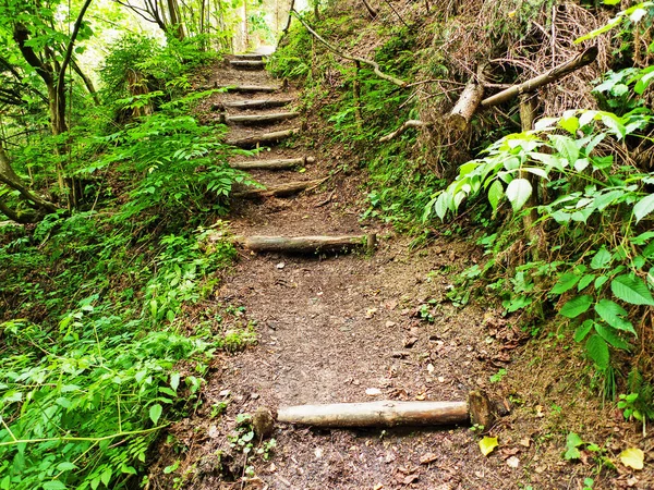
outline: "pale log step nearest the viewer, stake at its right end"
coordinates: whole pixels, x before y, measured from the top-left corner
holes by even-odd
[[[392,427],[399,425],[479,424],[495,421],[487,396],[470,393],[467,402],[397,402],[395,400],[280,407],[277,420],[314,427]]]

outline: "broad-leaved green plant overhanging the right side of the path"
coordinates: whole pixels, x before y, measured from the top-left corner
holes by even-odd
[[[630,350],[638,328],[645,328],[634,326],[639,307],[654,306],[654,232],[644,226],[654,211],[654,172],[629,164],[627,151],[607,151],[637,137],[650,120],[645,109],[621,118],[577,110],[543,119],[535,131],[508,135],[484,158],[463,164],[425,210],[425,218],[444,219],[482,193],[494,213],[506,201],[514,212],[533,212],[535,206],[533,225],[559,234],[552,252],[566,260],[545,268],[528,262],[521,270],[554,274],[547,295],[602,372],[610,367],[610,347]],[[525,294],[536,293],[531,291]]]

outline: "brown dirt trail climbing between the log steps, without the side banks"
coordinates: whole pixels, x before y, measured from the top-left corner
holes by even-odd
[[[221,85],[275,83],[265,72],[229,68],[220,69],[215,76]],[[290,89],[272,97],[295,96]],[[270,96],[227,94],[215,96],[211,102],[265,97]],[[247,112],[278,110],[288,109]],[[234,126],[229,137],[298,123]],[[312,121],[304,124],[311,133]],[[317,161],[306,166],[304,173],[258,171],[254,175],[265,184],[280,184],[334,173],[339,162],[311,146],[303,136],[257,157],[315,157]],[[514,342],[511,327],[492,313],[475,307],[460,310],[441,302],[451,287],[452,274],[480,259],[479,253],[451,243],[414,253],[404,238],[392,236],[380,225],[363,229],[358,220],[362,211],[359,179],[340,172],[319,188],[295,197],[234,204],[229,219],[230,230],[237,234],[299,236],[373,231],[382,240],[370,256],[288,257],[242,252],[237,270],[226,280],[217,299],[243,306],[245,316],[256,320],[258,345],[217,359],[216,372],[204,393],[205,403],[195,417],[173,429],[178,443],[186,450],[182,468],[192,475],[187,476],[186,488],[453,490],[522,488],[519,483],[530,481],[538,460],[533,445],[520,450],[521,464],[513,468],[506,460],[518,451],[486,458],[477,446],[477,436],[464,427],[276,427],[272,437],[277,448],[271,458],[250,457],[247,465],[253,466],[255,476],[245,483],[238,481],[245,474],[245,458],[234,455],[227,443],[238,414],[253,414],[259,406],[304,403],[465,400],[470,390],[488,388],[488,375],[506,366],[502,342],[489,338],[488,324],[494,324],[496,339]],[[370,388],[382,394],[367,395]],[[226,413],[211,417],[210,407],[221,402],[228,403]],[[510,425],[507,420],[500,424]],[[518,441],[509,438],[502,442],[511,448]],[[162,460],[181,457],[171,456],[173,450],[168,444]],[[565,468],[550,468],[543,477],[537,488],[566,488],[572,481]],[[229,482],[230,478],[237,481]],[[165,483],[160,487],[169,488]]]

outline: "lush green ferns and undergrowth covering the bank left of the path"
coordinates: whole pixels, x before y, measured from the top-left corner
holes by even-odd
[[[194,115],[209,93],[186,93],[215,57],[131,39],[107,59],[106,103],[60,138],[74,207],[0,229],[0,489],[146,486],[153,444],[202,403],[214,353],[256,342],[214,297],[237,257],[217,219],[234,183],[253,184],[227,164],[243,151],[225,126]],[[56,144],[12,154],[17,172],[51,169]]]

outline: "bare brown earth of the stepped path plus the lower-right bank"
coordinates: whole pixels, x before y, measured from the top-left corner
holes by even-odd
[[[261,72],[228,69],[218,71],[216,79],[274,83]],[[259,98],[218,94],[209,103],[225,97]],[[461,309],[450,303],[447,292],[455,275],[482,260],[480,250],[447,241],[412,250],[407,238],[382,225],[362,226],[363,175],[336,173],[336,157],[307,149],[311,132],[310,121],[308,136],[256,157],[314,156],[316,162],[304,173],[261,171],[256,177],[267,185],[332,177],[295,197],[234,203],[230,230],[287,236],[377,232],[378,247],[372,255],[316,257],[241,250],[215,299],[244,307],[246,319],[256,321],[258,345],[215,359],[204,403],[159,444],[150,488],[581,489],[586,477],[595,479],[594,489],[653,488],[649,476],[623,467],[597,477],[601,465],[588,451],[578,464],[562,460],[570,430],[584,441],[608,441],[604,455],[614,461],[625,440],[637,434],[618,415],[580,397],[574,383],[581,366],[561,360],[570,358],[562,351],[566,343],[545,340],[525,346],[526,334],[491,306]],[[500,369],[507,376],[491,382]],[[487,457],[477,445],[482,436],[469,427],[318,430],[277,425],[268,458],[256,449],[269,440],[255,438],[249,454],[238,443],[233,446],[233,439],[230,443],[239,414],[255,414],[259,407],[463,401],[480,388],[504,414],[486,428],[499,440]],[[179,468],[164,474],[175,461]]]

